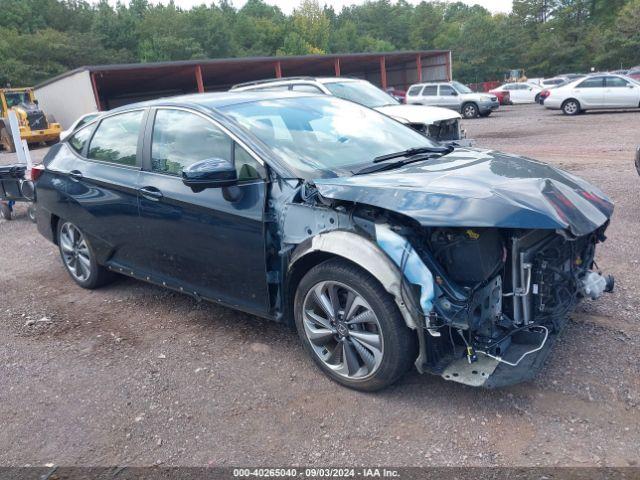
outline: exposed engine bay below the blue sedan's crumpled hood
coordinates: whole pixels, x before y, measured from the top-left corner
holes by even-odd
[[[530,368],[581,299],[613,290],[613,278],[594,269],[605,228],[579,238],[545,230],[427,229],[416,241],[436,272],[436,299],[425,319],[422,368],[462,383],[470,373],[479,385],[498,366]],[[476,368],[478,362],[493,370]],[[493,375],[487,386],[513,383],[512,374]]]

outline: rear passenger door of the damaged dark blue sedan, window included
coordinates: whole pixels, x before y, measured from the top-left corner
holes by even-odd
[[[128,269],[139,265],[137,183],[146,114],[144,109],[122,112],[105,117],[95,129],[79,130],[69,141],[76,158],[57,166],[65,170],[69,199],[64,219],[93,240],[99,262]]]

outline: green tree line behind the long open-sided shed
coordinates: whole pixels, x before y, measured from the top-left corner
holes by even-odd
[[[336,12],[301,0],[191,9],[179,2],[0,0],[0,85],[33,85],[82,65],[201,58],[451,49],[463,82],[640,64],[640,0],[514,0],[478,5],[369,0]]]

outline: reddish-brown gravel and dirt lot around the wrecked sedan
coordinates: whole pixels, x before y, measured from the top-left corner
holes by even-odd
[[[0,465],[637,465],[640,111],[517,106],[466,128],[616,202],[598,263],[617,291],[580,308],[535,381],[344,389],[281,325],[128,279],[80,289],[21,206],[0,220]]]

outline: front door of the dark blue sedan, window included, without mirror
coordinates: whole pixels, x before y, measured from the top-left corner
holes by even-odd
[[[182,169],[222,158],[239,183],[194,192]],[[145,268],[155,281],[253,313],[268,311],[261,163],[208,117],[158,108],[148,122],[139,181]]]

